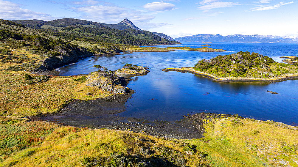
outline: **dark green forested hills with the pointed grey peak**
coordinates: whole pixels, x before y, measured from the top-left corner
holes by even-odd
[[[108,42],[125,45],[179,43],[161,39],[159,36],[149,31],[142,31],[134,26],[128,19],[124,19],[118,24],[97,23],[71,18],[57,19],[53,21],[13,20],[13,22],[23,24],[29,28],[40,29],[52,36],[71,41]]]

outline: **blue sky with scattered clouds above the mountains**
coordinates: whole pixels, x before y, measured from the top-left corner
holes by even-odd
[[[76,18],[135,26],[173,38],[195,34],[298,36],[298,1],[291,0],[0,0],[4,20]]]

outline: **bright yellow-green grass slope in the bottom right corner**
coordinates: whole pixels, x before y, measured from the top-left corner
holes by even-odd
[[[206,129],[205,138],[189,142],[206,152],[214,166],[280,166],[283,160],[298,165],[297,127],[230,117]]]

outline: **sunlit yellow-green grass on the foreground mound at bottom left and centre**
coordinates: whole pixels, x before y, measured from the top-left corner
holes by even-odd
[[[42,144],[15,152],[3,161],[14,166],[82,166],[86,157],[110,157],[112,153],[127,156],[138,154],[144,159],[179,155],[187,166],[205,166],[209,163],[198,150],[192,154],[185,150],[184,142],[167,140],[145,134],[115,130],[89,130],[86,128],[57,127],[44,138]],[[154,150],[150,154],[141,148]],[[173,155],[168,155],[172,153]],[[173,159],[174,160],[174,159]]]

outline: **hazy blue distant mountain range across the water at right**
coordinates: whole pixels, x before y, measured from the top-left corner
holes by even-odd
[[[296,39],[296,40],[295,40]],[[298,43],[298,38],[292,40],[288,37],[272,35],[226,35],[220,34],[197,34],[187,37],[179,37],[174,40],[178,42],[237,42],[237,43]]]

